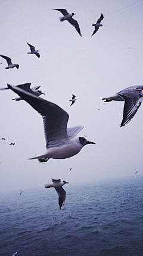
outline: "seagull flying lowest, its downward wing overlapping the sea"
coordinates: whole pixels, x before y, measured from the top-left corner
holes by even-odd
[[[66,191],[62,188],[62,186],[66,183],[66,180],[61,181],[61,179],[52,179],[52,183],[45,184],[45,188],[55,188],[58,194],[58,204],[61,208],[64,206],[64,202],[66,200]]]

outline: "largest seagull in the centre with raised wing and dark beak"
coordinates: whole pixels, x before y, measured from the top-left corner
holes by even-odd
[[[70,158],[79,153],[83,146],[95,144],[92,141],[86,140],[84,137],[76,137],[77,133],[83,127],[77,126],[67,129],[69,119],[67,112],[56,104],[33,95],[30,87],[29,90],[23,90],[23,85],[8,85],[8,88],[4,89],[11,89],[17,93],[23,100],[29,103],[33,109],[42,115],[46,139],[46,152],[29,159],[39,159],[39,161],[43,162],[44,159],[47,161],[47,158]]]

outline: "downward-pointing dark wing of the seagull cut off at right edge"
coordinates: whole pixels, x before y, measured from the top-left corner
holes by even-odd
[[[132,120],[133,116],[135,116],[139,107],[141,106],[143,98],[141,95],[136,95],[134,97],[127,97],[125,95],[121,95],[121,97],[125,100],[124,110],[123,110],[123,120],[120,124],[120,127],[125,126]],[[141,98],[140,98],[141,97]]]

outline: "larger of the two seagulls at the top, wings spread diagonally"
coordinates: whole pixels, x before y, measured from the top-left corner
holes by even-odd
[[[76,31],[79,33],[80,37],[82,37],[77,20],[74,20],[72,18],[75,15],[75,13],[68,13],[66,9],[52,9],[52,10],[60,11],[64,15],[63,17],[59,18],[60,22],[64,22],[64,20],[67,20],[68,22],[70,22],[70,24],[73,25]]]

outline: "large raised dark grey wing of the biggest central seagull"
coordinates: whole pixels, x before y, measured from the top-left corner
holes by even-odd
[[[69,136],[67,135],[67,122],[69,115],[66,111],[50,101],[43,100],[41,97],[37,97],[27,90],[25,91],[21,89],[20,85],[8,85],[8,88],[17,93],[42,116],[46,147],[54,146],[55,144],[60,145],[61,141],[63,140],[70,140]],[[29,86],[27,86],[27,88],[29,88]],[[30,91],[32,90],[30,89]]]

